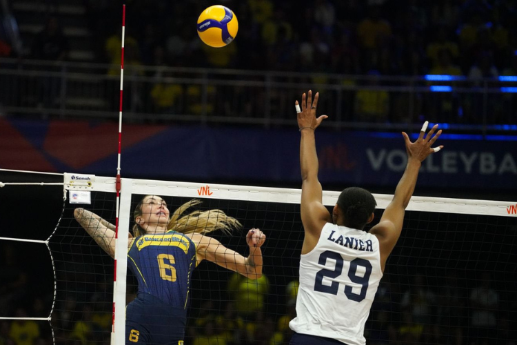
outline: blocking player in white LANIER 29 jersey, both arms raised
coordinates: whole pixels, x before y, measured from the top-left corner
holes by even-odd
[[[295,332],[291,345],[364,345],[365,322],[386,259],[401,235],[404,213],[411,199],[422,161],[443,146],[431,148],[440,137],[438,125],[426,137],[427,121],[412,143],[402,133],[407,150],[407,166],[394,197],[381,221],[369,233],[363,231],[374,219],[376,201],[363,188],[346,188],[338,197],[332,215],[322,203],[318,181],[318,157],[314,130],[326,115],[316,118],[318,93],[296,101],[301,132],[302,174],[301,219],[305,237],[300,259],[300,286],[296,317],[290,322]]]

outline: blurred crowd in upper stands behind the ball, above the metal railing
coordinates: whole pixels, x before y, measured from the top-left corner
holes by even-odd
[[[97,59],[119,63],[121,8],[89,0]],[[514,0],[221,1],[239,19],[234,43],[201,43],[208,1],[129,1],[130,63],[381,75],[517,74]]]

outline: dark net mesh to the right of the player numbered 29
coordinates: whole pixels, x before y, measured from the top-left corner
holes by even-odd
[[[516,221],[407,212],[370,314],[386,344],[510,344],[515,338]]]

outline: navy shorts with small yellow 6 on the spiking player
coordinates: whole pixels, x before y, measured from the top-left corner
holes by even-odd
[[[152,295],[139,294],[125,310],[125,344],[183,345],[185,314]]]

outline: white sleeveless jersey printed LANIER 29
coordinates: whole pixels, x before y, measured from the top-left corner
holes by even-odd
[[[375,235],[327,223],[318,244],[301,255],[296,333],[364,345],[365,322],[383,277]]]

